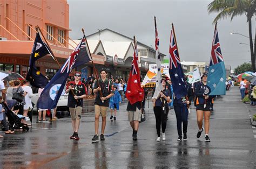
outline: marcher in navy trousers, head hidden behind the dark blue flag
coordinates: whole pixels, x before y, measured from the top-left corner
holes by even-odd
[[[178,141],[182,140],[182,132],[183,132],[183,140],[187,140],[187,118],[188,118],[188,108],[187,104],[190,104],[190,101],[186,100],[186,97],[177,98],[174,96],[173,108],[176,115],[177,120],[177,131],[178,131]],[[182,129],[183,125],[183,129]]]

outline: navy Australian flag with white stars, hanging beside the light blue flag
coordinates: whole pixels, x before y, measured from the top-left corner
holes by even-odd
[[[169,74],[171,76],[173,92],[179,99],[187,95],[187,89],[173,30],[171,30],[169,57]]]

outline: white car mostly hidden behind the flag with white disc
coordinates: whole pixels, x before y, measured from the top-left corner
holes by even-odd
[[[57,109],[69,110],[69,108],[67,107],[67,105],[68,105],[68,96],[69,96],[69,94],[64,94],[64,95],[61,95],[59,97],[59,101],[57,103]],[[35,104],[33,110],[37,111],[36,104],[37,104],[37,100],[38,100],[38,93],[34,93],[31,100]]]

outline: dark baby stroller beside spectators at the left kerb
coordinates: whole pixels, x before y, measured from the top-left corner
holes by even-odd
[[[29,126],[28,124],[24,124],[21,122],[22,118],[19,118],[13,111],[11,111],[10,108],[14,107],[16,104],[15,100],[8,100],[6,105],[3,103],[3,107],[5,109],[5,115],[8,117],[9,121],[9,129],[14,130],[14,129],[20,129],[22,127],[23,131],[29,131]],[[24,117],[25,118],[25,117]]]

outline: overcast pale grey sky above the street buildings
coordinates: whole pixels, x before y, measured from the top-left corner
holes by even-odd
[[[181,60],[209,61],[216,13],[208,15],[209,0],[68,0],[70,8],[70,37],[82,38],[82,27],[87,35],[97,29],[109,28],[125,36],[136,36],[146,45],[154,46],[154,19],[160,40],[160,52],[169,51],[171,23],[174,23]],[[254,18],[253,18],[254,37]],[[225,64],[232,69],[250,61],[249,40],[233,34],[248,36],[246,16],[230,22],[230,18],[218,22],[221,51]]]

